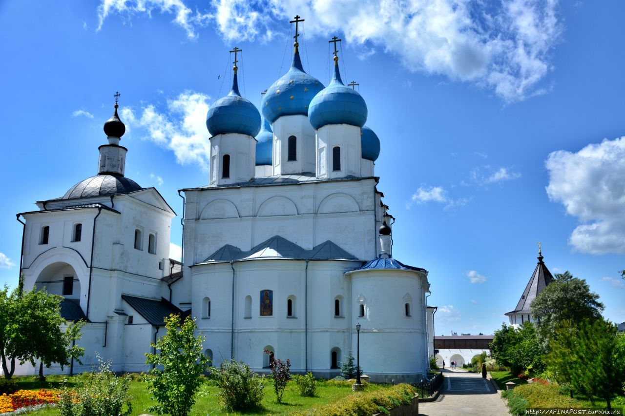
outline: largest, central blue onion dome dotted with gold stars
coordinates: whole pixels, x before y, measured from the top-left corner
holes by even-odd
[[[271,123],[281,116],[307,116],[312,97],[322,89],[323,84],[318,79],[304,72],[296,45],[291,69],[262,97],[262,115]]]

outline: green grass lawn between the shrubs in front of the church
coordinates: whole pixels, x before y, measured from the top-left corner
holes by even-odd
[[[19,389],[59,389],[61,377],[50,376],[47,377],[46,382],[37,382],[34,377],[15,377]],[[69,379],[71,384],[78,384],[79,378]],[[368,384],[365,392],[371,392],[373,390],[386,389],[391,387],[390,385],[382,384]],[[299,412],[301,410],[310,409],[311,407],[318,407],[337,400],[341,400],[352,394],[360,394],[359,392],[352,392],[351,385],[334,385],[327,383],[325,380],[319,380],[317,382],[317,396],[316,397],[301,397],[299,390],[294,382],[289,382],[282,397],[282,404],[277,404],[276,394],[273,390],[271,382],[266,382],[264,387],[264,399],[262,400],[262,409],[256,413],[249,413],[249,415],[284,415],[292,412]],[[217,387],[203,384],[198,394],[196,395],[196,404],[191,409],[191,415],[224,415],[226,412],[222,410],[219,405],[219,398],[217,397]],[[143,382],[131,382],[129,394],[133,397],[133,413],[132,415],[140,415],[148,413],[147,409],[155,402],[151,399],[148,393],[146,384]],[[58,416],[58,410],[54,408],[46,408],[32,412],[36,416]],[[231,415],[239,415],[239,413],[232,413]]]

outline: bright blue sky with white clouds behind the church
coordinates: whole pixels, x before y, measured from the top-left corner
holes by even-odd
[[[582,277],[625,320],[625,3],[617,0],[102,0],[0,2],[4,149],[0,276],[16,284],[17,212],[96,174],[121,92],[126,174],[182,212],[207,184],[209,105],[304,67],[360,83],[381,139],[394,257],[429,270],[436,334],[491,333],[536,265]],[[219,78],[218,78],[219,76]],[[181,244],[179,217],[171,239]]]

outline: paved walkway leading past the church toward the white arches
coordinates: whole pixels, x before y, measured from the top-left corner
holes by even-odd
[[[444,387],[436,402],[419,403],[422,416],[505,416],[506,404],[492,382],[481,374],[443,370]]]

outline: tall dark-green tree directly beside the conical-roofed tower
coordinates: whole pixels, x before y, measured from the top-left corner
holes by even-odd
[[[556,274],[555,278],[531,305],[532,317],[537,322],[537,339],[544,353],[556,333],[556,325],[562,320],[574,323],[596,320],[603,310],[599,295],[590,291],[586,280],[572,277],[568,271]]]

